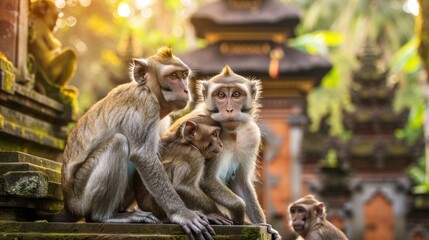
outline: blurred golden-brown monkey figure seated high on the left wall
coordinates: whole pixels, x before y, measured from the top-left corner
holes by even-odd
[[[71,48],[62,48],[53,35],[60,14],[51,0],[32,1],[28,50],[34,56],[38,70],[43,71],[52,84],[63,87],[75,74],[77,57]],[[41,84],[36,83],[36,88],[45,93]]]

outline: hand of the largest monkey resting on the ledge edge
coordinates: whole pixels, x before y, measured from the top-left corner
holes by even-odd
[[[216,234],[207,217],[197,211],[182,209],[173,213],[170,220],[179,224],[192,240],[213,240],[211,235]]]

